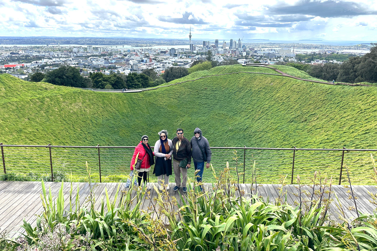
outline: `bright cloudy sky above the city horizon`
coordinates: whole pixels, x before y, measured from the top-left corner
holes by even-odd
[[[376,0],[0,0],[0,36],[376,41]]]

